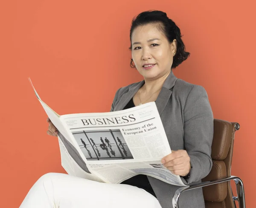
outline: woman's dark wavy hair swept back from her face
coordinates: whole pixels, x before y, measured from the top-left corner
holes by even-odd
[[[158,24],[158,29],[163,32],[166,38],[169,40],[169,43],[172,43],[174,39],[177,40],[177,51],[176,55],[173,57],[172,69],[175,69],[178,65],[180,65],[183,61],[185,61],[190,53],[185,51],[185,45],[181,40],[182,35],[180,34],[180,29],[175,24],[174,21],[167,17],[167,14],[162,11],[157,10],[149,10],[146,12],[142,12],[134,17],[131,22],[131,29],[130,29],[130,41],[131,35],[135,28],[138,26],[143,26],[148,23],[156,23]],[[130,46],[131,50],[132,46]],[[132,63],[133,60],[131,59],[130,66],[135,68],[135,65]]]

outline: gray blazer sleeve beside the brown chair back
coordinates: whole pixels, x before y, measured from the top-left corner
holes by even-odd
[[[201,180],[212,168],[213,114],[206,90],[194,85],[184,107],[184,143],[191,170],[187,183]]]

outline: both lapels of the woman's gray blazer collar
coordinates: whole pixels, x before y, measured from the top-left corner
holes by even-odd
[[[159,114],[163,112],[163,109],[166,107],[166,104],[168,103],[171,95],[172,95],[172,87],[175,85],[177,78],[171,71],[166,80],[163,83],[163,87],[161,91],[159,92],[159,95],[157,97],[156,106]],[[128,102],[133,98],[135,93],[145,84],[145,81],[140,81],[131,87],[129,87],[128,92],[122,95],[119,102],[116,104],[115,111],[116,110],[122,110]]]

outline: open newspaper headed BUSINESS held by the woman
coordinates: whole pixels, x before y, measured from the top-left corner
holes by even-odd
[[[161,163],[172,151],[155,102],[114,112],[60,116],[33,89],[58,129],[61,165],[68,174],[105,183],[144,174],[186,186]]]

